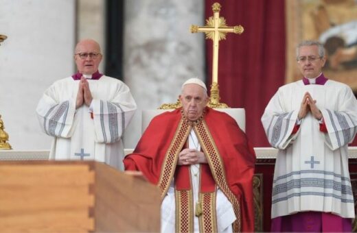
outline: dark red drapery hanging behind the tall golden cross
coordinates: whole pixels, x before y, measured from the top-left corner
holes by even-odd
[[[220,3],[220,16],[229,26],[242,25],[241,35],[229,33],[220,41],[218,84],[220,102],[245,108],[246,134],[253,147],[269,147],[260,118],[285,75],[285,0],[207,0]],[[212,40],[206,40],[207,84],[212,77]]]

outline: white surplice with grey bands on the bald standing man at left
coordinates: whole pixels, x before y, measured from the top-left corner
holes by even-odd
[[[88,79],[93,101],[76,110],[80,80],[72,77],[52,84],[36,112],[42,130],[54,136],[50,159],[96,160],[123,170],[122,136],[137,108],[124,82],[103,75]],[[93,115],[93,118],[91,116]]]

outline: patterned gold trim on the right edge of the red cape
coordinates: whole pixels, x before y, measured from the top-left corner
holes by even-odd
[[[233,232],[240,232],[242,226],[242,217],[240,214],[240,202],[229,189],[227,184],[226,173],[224,170],[224,164],[216,143],[208,130],[205,120],[201,121],[198,125],[194,126],[194,131],[197,135],[199,143],[207,156],[209,168],[214,177],[214,180],[220,190],[226,195],[226,197],[231,201],[233,210],[235,212],[235,217],[237,218],[233,223]]]

